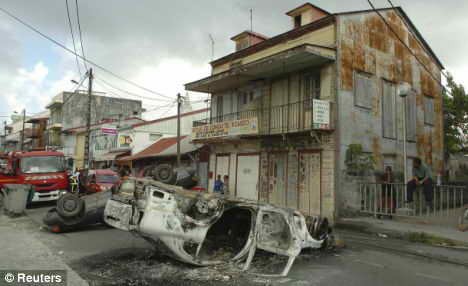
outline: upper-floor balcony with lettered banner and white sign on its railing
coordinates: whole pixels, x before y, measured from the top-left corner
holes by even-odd
[[[192,140],[333,131],[334,105],[307,100],[268,109],[245,110],[193,122]]]

